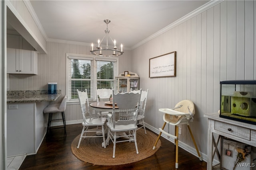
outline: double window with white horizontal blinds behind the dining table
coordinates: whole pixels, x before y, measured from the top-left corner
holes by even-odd
[[[97,88],[116,89],[118,58],[67,54],[67,95],[78,101],[76,89],[87,89],[89,100],[96,100]]]

